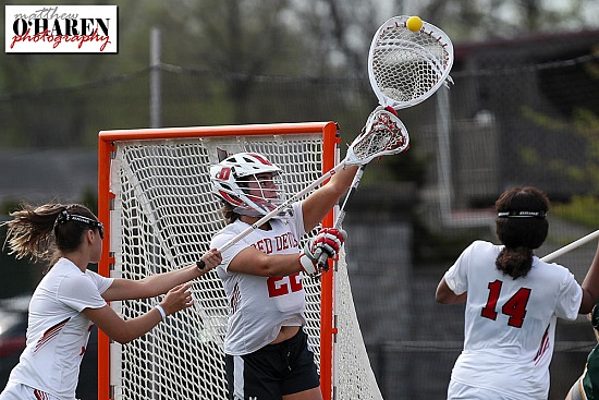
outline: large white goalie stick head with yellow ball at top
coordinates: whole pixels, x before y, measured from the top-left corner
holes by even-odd
[[[453,45],[448,35],[423,21],[420,31],[407,28],[409,16],[394,16],[375,34],[368,53],[368,77],[382,106],[415,106],[441,85],[452,82]]]

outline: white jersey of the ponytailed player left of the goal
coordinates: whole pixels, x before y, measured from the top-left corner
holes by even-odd
[[[32,296],[27,346],[9,381],[61,400],[75,399],[80,364],[94,326],[82,311],[103,307],[101,293],[112,281],[90,270],[84,274],[61,258]]]

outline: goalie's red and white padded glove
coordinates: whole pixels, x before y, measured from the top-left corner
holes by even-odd
[[[306,274],[316,275],[320,272],[321,266],[318,260],[322,254],[327,258],[337,259],[339,250],[345,242],[347,233],[343,229],[323,228],[304,246],[304,252],[300,255],[300,264]],[[327,263],[322,267],[326,268]]]

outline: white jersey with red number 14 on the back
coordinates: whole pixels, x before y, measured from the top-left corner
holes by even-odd
[[[505,398],[545,400],[557,318],[576,318],[582,288],[566,268],[536,256],[528,275],[513,279],[496,267],[502,249],[475,241],[444,275],[455,294],[467,292],[464,350],[451,378]]]

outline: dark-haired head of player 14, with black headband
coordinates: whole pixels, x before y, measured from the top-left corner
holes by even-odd
[[[496,266],[513,279],[526,277],[533,267],[533,250],[547,239],[549,199],[533,186],[512,187],[499,196],[496,210],[496,232],[504,245]]]

